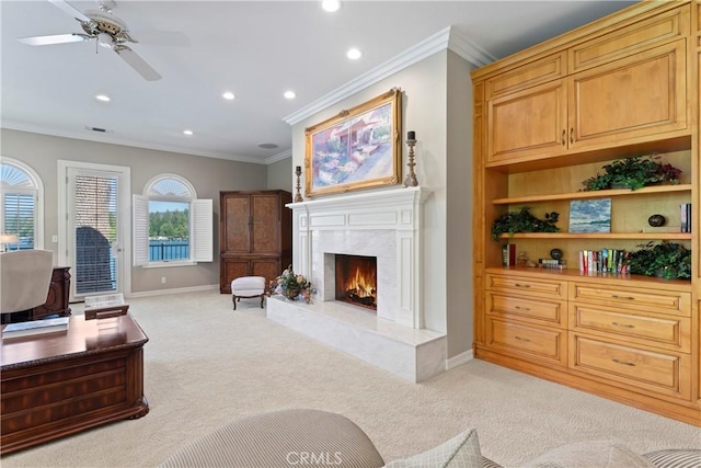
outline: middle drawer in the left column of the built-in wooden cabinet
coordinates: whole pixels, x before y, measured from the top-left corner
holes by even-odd
[[[487,292],[486,310],[492,315],[533,319],[545,324],[567,327],[565,320],[566,301],[545,301]]]

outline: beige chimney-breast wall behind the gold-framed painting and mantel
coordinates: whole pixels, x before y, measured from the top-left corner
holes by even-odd
[[[470,69],[459,56],[443,50],[292,127],[292,165],[303,165],[304,128],[393,87],[402,89],[402,141],[407,130],[416,132],[417,179],[432,192],[424,207],[425,326],[447,333],[449,357],[472,346]],[[406,147],[402,150],[404,172]]]

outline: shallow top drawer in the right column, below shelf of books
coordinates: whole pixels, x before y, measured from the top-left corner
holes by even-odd
[[[624,287],[570,283],[570,300],[594,303],[629,310],[691,316],[691,295],[678,290],[629,289]]]

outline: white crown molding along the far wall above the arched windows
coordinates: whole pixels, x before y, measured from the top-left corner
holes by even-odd
[[[130,146],[135,148],[143,148],[143,149],[152,149],[156,151],[166,151],[166,152],[176,152],[180,155],[188,155],[188,156],[199,156],[204,158],[216,158],[216,159],[226,159],[229,161],[238,161],[238,162],[250,162],[253,164],[266,164],[267,160],[263,160],[260,158],[254,158],[251,156],[239,156],[239,155],[229,155],[225,152],[218,151],[198,151],[198,150],[188,150],[185,148],[179,148],[174,146],[166,145],[153,145],[147,144],[143,141],[131,141],[122,138],[110,137],[110,135],[101,135],[101,134],[83,134],[81,132],[62,132],[62,130],[54,130],[47,129],[36,125],[27,125],[21,124],[18,122],[2,121],[0,122],[0,128],[8,128],[10,130],[19,130],[19,132],[30,132],[33,134],[48,135],[53,137],[62,137],[62,138],[72,138],[79,140],[87,141],[95,141],[107,145],[120,145],[120,146]],[[85,130],[88,133],[89,130]],[[290,150],[291,151],[291,150]],[[275,157],[272,157],[275,158]],[[284,159],[284,157],[283,157]]]

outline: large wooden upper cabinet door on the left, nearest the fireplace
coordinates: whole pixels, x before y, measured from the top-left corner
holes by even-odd
[[[487,164],[566,151],[565,80],[487,101]]]

